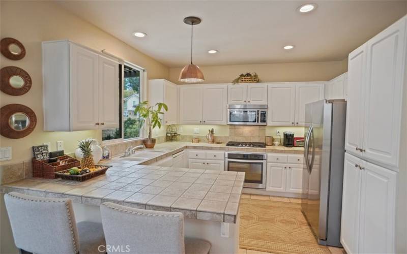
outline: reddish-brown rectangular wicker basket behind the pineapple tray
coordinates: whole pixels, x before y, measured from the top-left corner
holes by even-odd
[[[80,162],[68,155],[63,155],[57,157],[58,161],[53,163],[48,163],[46,160],[36,160],[33,158],[33,176],[39,178],[54,179],[55,172],[70,169],[72,167],[79,167]],[[61,162],[65,162],[65,165],[60,165]]]

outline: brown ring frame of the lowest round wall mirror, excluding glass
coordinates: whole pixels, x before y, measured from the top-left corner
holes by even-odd
[[[14,130],[9,124],[10,117],[15,113],[23,113],[30,119],[27,128],[21,131]],[[30,135],[37,125],[37,116],[31,108],[21,104],[8,104],[0,108],[0,134],[10,139],[20,139]]]

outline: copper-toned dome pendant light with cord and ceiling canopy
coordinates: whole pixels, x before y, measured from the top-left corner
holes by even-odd
[[[197,83],[205,81],[202,72],[199,67],[192,63],[192,38],[193,38],[193,26],[200,23],[200,18],[197,17],[186,17],[184,18],[184,23],[191,25],[191,63],[186,65],[181,73],[178,81],[185,83]]]

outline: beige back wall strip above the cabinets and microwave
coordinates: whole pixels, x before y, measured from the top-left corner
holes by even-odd
[[[169,80],[178,81],[182,68],[170,68]],[[230,83],[241,73],[255,72],[263,82],[327,81],[347,71],[347,59],[329,62],[267,63],[261,65],[200,66],[204,83]]]

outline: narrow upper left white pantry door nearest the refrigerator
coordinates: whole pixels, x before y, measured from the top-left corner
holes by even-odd
[[[363,142],[363,107],[366,75],[366,44],[349,54],[345,150],[356,155]],[[358,150],[356,150],[358,148]]]

